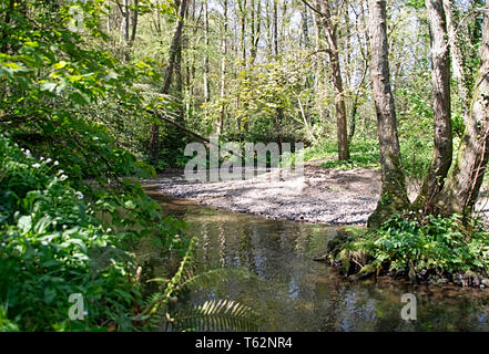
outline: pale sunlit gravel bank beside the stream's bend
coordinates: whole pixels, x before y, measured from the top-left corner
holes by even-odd
[[[325,168],[320,167],[322,163],[324,160],[306,163],[304,178],[292,176],[281,180],[282,171],[275,169],[245,180],[190,183],[183,171],[172,171],[159,175],[151,184],[159,184],[162,194],[174,198],[267,219],[366,225],[379,198],[380,171],[365,167]],[[411,200],[418,187],[416,183],[408,183]],[[487,192],[483,190],[481,195],[477,209],[489,219]]]

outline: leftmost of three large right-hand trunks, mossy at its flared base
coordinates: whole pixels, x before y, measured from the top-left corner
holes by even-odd
[[[369,34],[371,52],[371,81],[377,112],[381,166],[381,195],[368,227],[378,227],[394,212],[408,208],[405,175],[401,169],[397,136],[396,110],[390,88],[387,46],[386,1],[369,0]]]

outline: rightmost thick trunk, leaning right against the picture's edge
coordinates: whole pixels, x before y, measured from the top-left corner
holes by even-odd
[[[469,218],[473,211],[489,157],[489,13],[483,12],[480,66],[476,76],[468,124],[455,166],[438,196],[441,214],[460,214]]]

